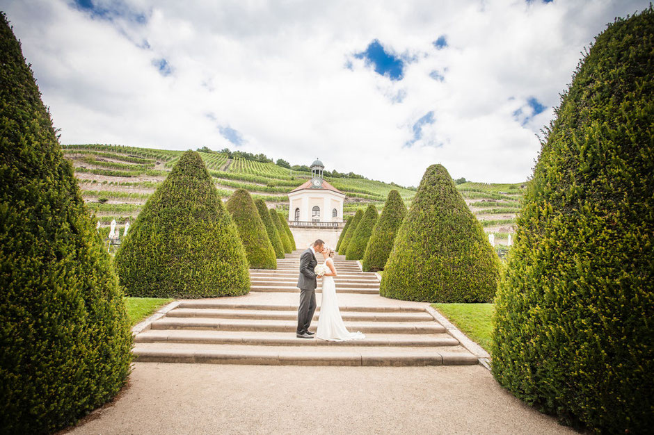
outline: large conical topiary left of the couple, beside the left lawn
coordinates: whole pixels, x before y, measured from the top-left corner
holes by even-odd
[[[114,263],[131,296],[248,293],[245,249],[200,154],[182,154],[147,199]]]

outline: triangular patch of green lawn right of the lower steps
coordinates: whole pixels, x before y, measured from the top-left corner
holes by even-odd
[[[494,304],[431,304],[463,334],[490,353],[490,331],[493,330]]]

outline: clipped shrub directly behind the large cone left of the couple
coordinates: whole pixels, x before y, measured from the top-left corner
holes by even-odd
[[[275,248],[268,238],[268,232],[250,192],[245,189],[236,190],[225,207],[239,229],[239,237],[246,249],[250,268],[276,269]]]

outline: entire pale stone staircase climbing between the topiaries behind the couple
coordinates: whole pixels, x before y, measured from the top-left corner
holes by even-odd
[[[300,251],[277,270],[250,270],[248,295],[183,299],[134,337],[138,362],[304,366],[440,366],[477,364],[427,311],[428,304],[379,296],[376,274],[336,256],[340,310],[365,340],[336,343],[296,338]],[[311,330],[315,331],[318,309]]]

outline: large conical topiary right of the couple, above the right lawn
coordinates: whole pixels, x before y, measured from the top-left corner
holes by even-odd
[[[442,165],[427,168],[388,256],[380,294],[424,302],[491,302],[500,260]]]

